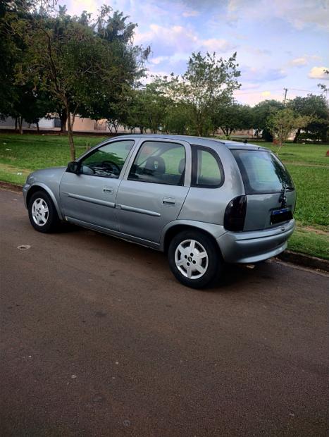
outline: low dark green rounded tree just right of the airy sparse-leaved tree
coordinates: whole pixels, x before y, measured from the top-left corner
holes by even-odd
[[[248,105],[233,103],[217,106],[213,113],[214,129],[221,128],[228,138],[235,130],[249,129],[252,125],[252,109]]]

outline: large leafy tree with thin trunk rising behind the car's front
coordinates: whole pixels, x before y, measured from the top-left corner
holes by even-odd
[[[118,22],[118,15],[115,17]],[[68,16],[61,8],[55,16],[35,12],[32,22],[25,21],[23,27],[27,50],[16,66],[16,78],[20,82],[32,80],[38,89],[61,102],[72,160],[73,123],[78,111],[95,112],[95,102],[110,101],[123,85],[132,84],[141,70],[144,52],[132,44],[125,47],[124,32],[112,24],[111,8],[104,6],[96,22],[86,13]]]

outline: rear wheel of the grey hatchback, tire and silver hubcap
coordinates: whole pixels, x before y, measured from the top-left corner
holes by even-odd
[[[197,230],[175,235],[169,245],[168,261],[175,278],[191,288],[206,288],[215,283],[223,267],[216,242]]]

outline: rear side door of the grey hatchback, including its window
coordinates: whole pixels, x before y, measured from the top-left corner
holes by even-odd
[[[189,144],[168,140],[142,142],[118,189],[119,231],[159,243],[163,227],[177,219],[187,196],[187,168],[190,169]]]

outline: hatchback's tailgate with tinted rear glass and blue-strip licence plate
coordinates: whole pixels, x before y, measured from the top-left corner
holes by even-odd
[[[292,219],[296,192],[287,169],[266,149],[232,149],[247,195],[244,230],[273,228]]]

